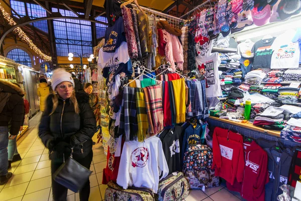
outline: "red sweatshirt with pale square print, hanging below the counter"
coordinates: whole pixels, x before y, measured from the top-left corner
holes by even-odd
[[[242,136],[226,129],[215,128],[213,133],[213,163],[215,176],[233,185],[235,178],[243,181],[244,153]]]

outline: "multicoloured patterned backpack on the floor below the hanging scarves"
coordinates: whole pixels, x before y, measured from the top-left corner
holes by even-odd
[[[219,186],[219,177],[211,170],[213,152],[207,145],[189,145],[184,153],[183,173],[190,188]]]

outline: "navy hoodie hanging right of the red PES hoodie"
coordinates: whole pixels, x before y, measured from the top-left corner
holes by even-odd
[[[269,182],[265,185],[265,200],[277,201],[277,196],[282,194],[279,188],[287,184],[290,163],[292,160],[289,149],[284,149],[278,142],[270,142],[263,139],[257,140],[268,156]],[[278,146],[277,146],[278,145]]]

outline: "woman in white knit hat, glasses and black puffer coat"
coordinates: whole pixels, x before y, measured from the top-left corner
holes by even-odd
[[[93,152],[92,137],[96,130],[96,120],[85,92],[75,95],[74,80],[64,69],[54,70],[52,88],[46,100],[46,108],[39,126],[39,136],[49,149],[51,173],[67,160],[73,150],[73,159],[90,168]],[[66,200],[67,188],[52,179],[52,192],[55,201]],[[81,201],[88,201],[90,181],[79,191]]]

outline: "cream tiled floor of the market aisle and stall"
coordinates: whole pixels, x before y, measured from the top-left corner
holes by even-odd
[[[38,125],[41,114],[36,115],[30,121],[30,129],[18,140],[18,151],[22,161],[12,164],[9,170],[13,172],[13,177],[5,185],[0,185],[1,201],[52,201],[51,190],[51,170],[48,150],[38,137]],[[96,138],[96,136],[95,136]],[[93,139],[96,141],[96,139]],[[101,184],[102,171],[106,166],[106,156],[103,148],[96,144],[93,146],[93,161],[90,176],[91,192],[89,200],[99,201],[104,199],[106,185]],[[219,201],[219,200],[241,200],[239,194],[232,194],[225,185],[215,188],[208,188],[205,192],[201,190],[191,190],[186,201]],[[67,200],[79,200],[79,194],[71,190],[68,191]]]

